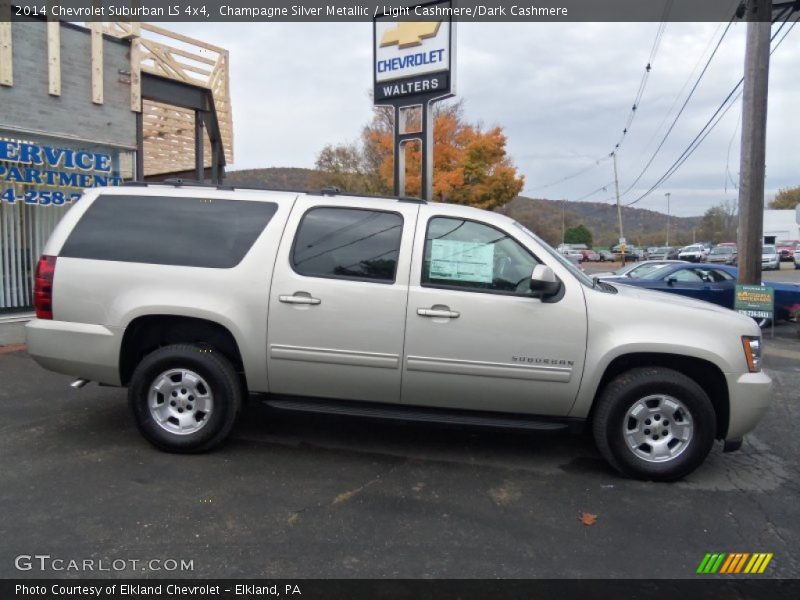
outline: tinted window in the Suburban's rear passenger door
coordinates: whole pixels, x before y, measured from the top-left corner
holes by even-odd
[[[358,208],[312,208],[297,228],[292,267],[300,275],[392,283],[403,217]]]

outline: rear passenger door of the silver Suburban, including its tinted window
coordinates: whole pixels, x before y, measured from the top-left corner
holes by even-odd
[[[270,392],[399,402],[418,208],[344,196],[298,198],[271,286]]]

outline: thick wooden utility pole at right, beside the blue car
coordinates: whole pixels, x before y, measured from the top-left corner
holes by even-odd
[[[761,283],[764,227],[764,172],[772,0],[747,1],[744,56],[742,149],[739,168],[739,283]]]

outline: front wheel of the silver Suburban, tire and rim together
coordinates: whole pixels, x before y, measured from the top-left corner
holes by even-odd
[[[692,379],[662,367],[631,369],[606,386],[594,415],[603,457],[629,477],[674,481],[714,444],[711,400]]]

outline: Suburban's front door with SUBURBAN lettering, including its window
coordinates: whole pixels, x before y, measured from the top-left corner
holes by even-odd
[[[522,236],[493,215],[484,217],[484,226],[494,229],[483,233],[455,215],[449,228],[431,222],[449,210],[420,208],[406,311],[403,402],[566,415],[586,353],[581,284],[563,276],[562,267],[563,297],[552,303],[532,297],[532,265],[539,258],[550,264],[547,257],[535,257]]]

